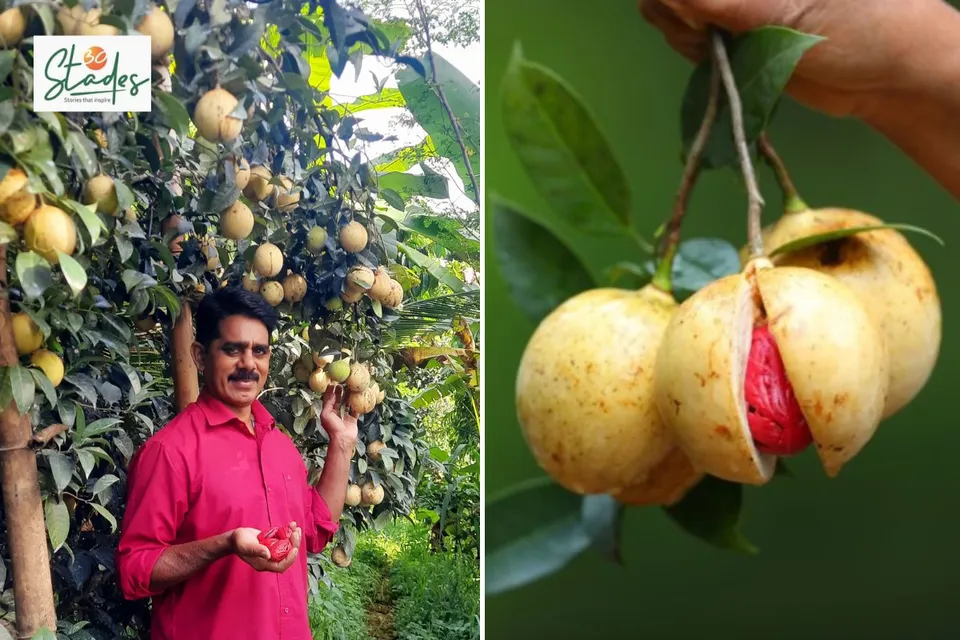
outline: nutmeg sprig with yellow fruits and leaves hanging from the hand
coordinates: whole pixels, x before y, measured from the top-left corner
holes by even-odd
[[[808,206],[770,141],[787,81],[822,38],[782,27],[710,38],[683,96],[673,211],[652,234],[632,219],[624,172],[584,101],[519,46],[510,61],[504,127],[550,210],[500,198],[493,226],[499,268],[536,325],[515,403],[544,475],[487,501],[488,594],[591,547],[621,561],[627,508],[660,509],[717,549],[756,554],[740,526],[744,485],[791,475],[784,460],[811,448],[836,477],[932,374],[940,302],[905,233],[939,239]],[[782,195],[767,227],[757,158]],[[708,170],[738,177],[745,237],[682,238]],[[649,259],[598,277],[569,233],[619,236]]]

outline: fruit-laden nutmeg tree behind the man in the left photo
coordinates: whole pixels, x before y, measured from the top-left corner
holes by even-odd
[[[380,136],[328,96],[365,55],[423,73],[390,32],[333,0],[0,13],[0,619],[21,636],[143,629],[113,577],[125,466],[196,398],[192,306],[217,287],[278,310],[262,400],[314,472],[326,387],[362,414],[340,552],[410,508],[426,451],[384,341],[410,267],[357,148]],[[32,111],[33,36],[126,33],[151,37],[150,112]]]

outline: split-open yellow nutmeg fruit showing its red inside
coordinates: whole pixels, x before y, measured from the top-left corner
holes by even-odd
[[[680,305],[653,381],[695,468],[762,485],[778,456],[811,443],[835,477],[876,432],[890,361],[868,308],[840,280],[758,258]]]

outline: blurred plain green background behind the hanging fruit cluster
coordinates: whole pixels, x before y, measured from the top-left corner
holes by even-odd
[[[645,235],[668,215],[679,184],[679,108],[690,65],[640,17],[635,0],[486,0],[486,175],[499,193],[537,211],[503,133],[500,81],[512,46],[556,70],[584,97],[633,190]],[[772,140],[811,206],[859,208],[911,222],[947,248],[911,235],[943,301],[944,339],[932,381],[885,423],[834,480],[809,450],[796,478],[745,494],[743,530],[760,555],[706,546],[656,509],[628,510],[625,567],[590,552],[564,571],[486,602],[488,638],[940,638],[960,629],[960,473],[955,376],[960,376],[958,204],[892,144],[852,120],[785,100]],[[779,193],[760,169],[774,219]],[[489,202],[489,200],[488,200]],[[694,193],[686,237],[745,240],[745,200],[733,174],[708,172]],[[490,218],[488,208],[488,227]],[[594,273],[641,261],[626,241],[566,237]],[[513,383],[533,326],[513,305],[486,237],[486,494],[540,472],[514,414]],[[613,635],[611,635],[613,634]]]

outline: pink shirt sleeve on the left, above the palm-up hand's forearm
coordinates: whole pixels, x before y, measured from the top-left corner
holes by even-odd
[[[117,548],[117,577],[127,600],[158,595],[150,576],[176,540],[187,512],[187,475],[162,442],[147,442],[131,460],[127,505]]]

